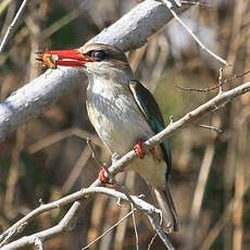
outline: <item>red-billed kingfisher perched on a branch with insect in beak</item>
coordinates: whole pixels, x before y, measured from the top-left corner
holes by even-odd
[[[111,45],[88,43],[79,49],[50,50],[37,60],[45,66],[71,66],[84,71],[89,84],[86,107],[91,124],[110,154],[124,155],[133,148],[138,158],[128,165],[152,187],[167,233],[177,232],[179,222],[170,190],[172,155],[168,139],[142,151],[142,141],[165,127],[152,93],[137,79],[125,53]],[[42,60],[46,58],[47,60]],[[99,174],[105,183],[103,170]]]

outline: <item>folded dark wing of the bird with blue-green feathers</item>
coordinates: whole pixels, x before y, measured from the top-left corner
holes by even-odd
[[[148,121],[151,129],[155,134],[163,130],[165,128],[165,123],[152,93],[137,80],[130,80],[129,88],[135,98],[137,105],[139,107],[141,113]],[[172,157],[171,157],[171,146],[167,139],[165,139],[164,142],[161,143],[161,149],[163,152],[164,160],[167,164],[167,174],[168,174],[171,173],[171,167],[172,167]]]

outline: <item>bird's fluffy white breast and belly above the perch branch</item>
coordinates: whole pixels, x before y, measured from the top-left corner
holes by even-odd
[[[108,80],[107,80],[108,82]],[[138,139],[153,135],[133,96],[121,86],[95,80],[88,87],[88,115],[98,135],[111,153],[121,154],[133,148]]]

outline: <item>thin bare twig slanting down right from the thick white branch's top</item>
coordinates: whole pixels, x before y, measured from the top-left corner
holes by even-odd
[[[222,64],[228,66],[229,64],[227,63],[226,60],[222,59],[217,54],[215,54],[213,51],[208,49],[204,43],[195,35],[195,33],[183,22],[183,20],[177,15],[177,13],[173,10],[173,4],[168,0],[162,0],[166,7],[168,8],[170,12],[173,14],[175,20],[191,35],[191,37],[195,39],[195,41],[201,47],[202,50],[211,54],[214,59],[216,59],[218,62]]]

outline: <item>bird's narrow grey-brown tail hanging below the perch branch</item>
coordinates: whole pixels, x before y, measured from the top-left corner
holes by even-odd
[[[179,222],[168,185],[165,190],[153,188],[153,193],[162,211],[164,230],[166,233],[177,232],[179,228]]]

